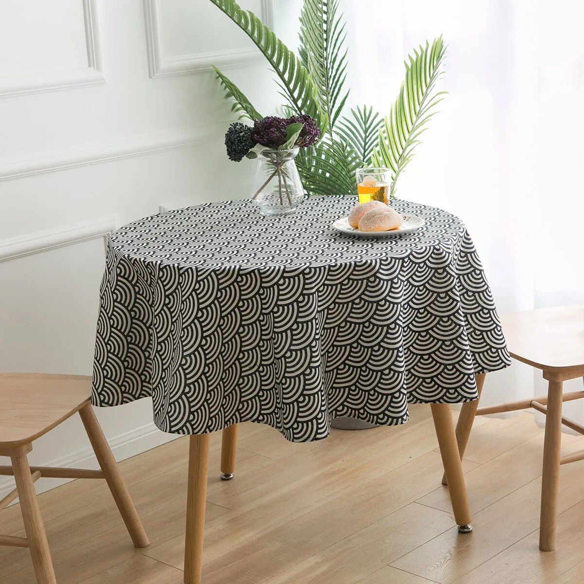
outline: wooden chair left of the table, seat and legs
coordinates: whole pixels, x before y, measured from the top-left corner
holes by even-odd
[[[112,491],[135,547],[148,545],[148,537],[121,478],[89,395],[91,378],[72,375],[29,373],[0,374],[0,456],[9,456],[12,466],[0,466],[0,475],[13,475],[16,489],[0,500],[0,510],[20,499],[26,538],[0,536],[0,545],[28,547],[38,584],[55,584],[53,562],[34,481],[41,477],[104,478]],[[39,436],[79,412],[101,470],[29,467],[27,453]]]

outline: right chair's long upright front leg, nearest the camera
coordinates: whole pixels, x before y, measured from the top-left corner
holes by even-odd
[[[541,475],[540,550],[555,548],[559,459],[562,442],[562,382],[550,381],[545,416],[544,464]]]

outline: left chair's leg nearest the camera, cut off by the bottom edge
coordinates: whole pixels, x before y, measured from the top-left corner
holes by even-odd
[[[11,460],[37,583],[56,584],[47,534],[44,531],[43,518],[40,515],[39,502],[30,475],[29,461],[26,454],[13,456]]]

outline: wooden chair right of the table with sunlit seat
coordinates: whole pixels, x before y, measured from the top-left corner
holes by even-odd
[[[584,306],[544,308],[507,314],[501,319],[511,356],[543,371],[548,394],[510,404],[478,408],[478,399],[463,405],[456,426],[460,457],[464,456],[474,416],[533,408],[544,413],[545,438],[541,478],[540,550],[555,548],[559,466],[584,459],[584,450],[561,456],[562,424],[584,434],[584,426],[562,418],[562,402],[584,397],[584,391],[562,392],[562,383],[584,377]],[[478,380],[477,380],[478,381]],[[482,380],[478,384],[479,398]],[[446,479],[443,477],[443,484]]]

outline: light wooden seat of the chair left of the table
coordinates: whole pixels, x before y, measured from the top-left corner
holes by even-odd
[[[28,444],[88,404],[91,377],[0,374],[0,449]]]

